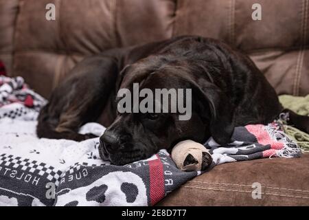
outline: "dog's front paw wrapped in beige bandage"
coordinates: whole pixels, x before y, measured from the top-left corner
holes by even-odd
[[[192,140],[184,140],[176,144],[172,149],[172,159],[176,166],[184,171],[205,170],[212,162],[207,148]]]

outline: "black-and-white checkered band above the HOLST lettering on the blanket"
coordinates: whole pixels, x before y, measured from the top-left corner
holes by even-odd
[[[22,159],[21,157],[14,157],[3,153],[0,155],[0,165],[12,166],[13,168],[20,168],[23,171],[30,173],[37,173],[38,175],[47,175],[47,179],[58,184],[62,171],[56,170],[53,166],[48,166],[45,163],[38,163],[36,160]]]

